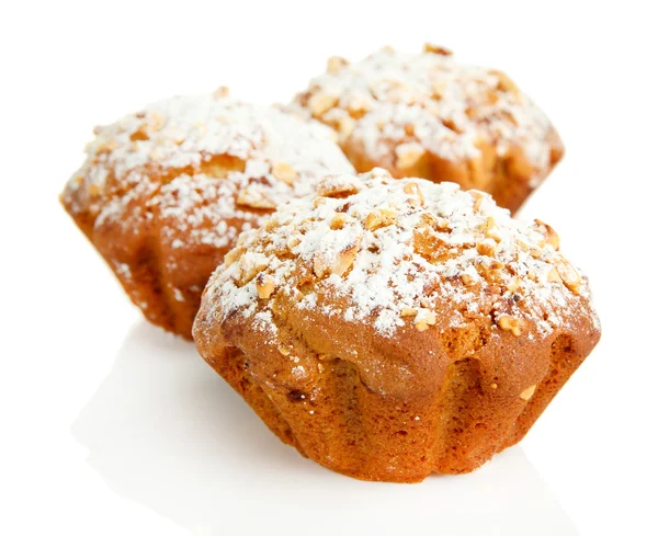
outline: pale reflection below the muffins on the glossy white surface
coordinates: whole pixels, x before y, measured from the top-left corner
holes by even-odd
[[[412,486],[326,470],[280,443],[192,344],[146,322],[71,432],[114,492],[191,534],[256,534],[282,515],[317,535],[578,534],[519,447],[474,474]]]

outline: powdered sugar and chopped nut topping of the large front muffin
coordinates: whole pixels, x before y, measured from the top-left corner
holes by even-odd
[[[583,317],[597,324],[548,225],[512,219],[488,194],[381,169],[327,178],[243,233],[205,301],[219,324],[248,319],[274,339],[283,309],[378,338],[478,320],[541,340]]]

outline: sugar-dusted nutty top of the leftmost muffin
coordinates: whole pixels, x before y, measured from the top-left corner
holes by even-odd
[[[217,247],[328,172],[353,170],[326,126],[226,89],[167,99],[94,133],[63,194],[73,215],[134,225],[158,212],[173,231],[197,228]]]

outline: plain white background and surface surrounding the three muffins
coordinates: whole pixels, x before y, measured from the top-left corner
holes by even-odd
[[[657,534],[651,3],[3,2],[0,534]],[[507,71],[563,135],[522,216],[590,274],[603,338],[479,471],[358,482],[141,320],[57,194],[91,128],[150,101],[222,84],[286,101],[330,55],[426,41]]]

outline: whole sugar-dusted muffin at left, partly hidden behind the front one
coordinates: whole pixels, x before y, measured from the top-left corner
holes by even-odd
[[[226,90],[98,127],[61,203],[145,317],[191,339],[201,294],[238,235],[327,173],[334,133]]]

